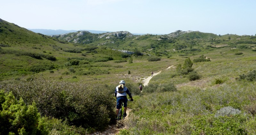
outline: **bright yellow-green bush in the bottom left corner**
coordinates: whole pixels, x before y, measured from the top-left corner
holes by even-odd
[[[22,98],[17,101],[12,92],[0,91],[0,134],[38,134],[39,118],[35,102],[26,105]]]

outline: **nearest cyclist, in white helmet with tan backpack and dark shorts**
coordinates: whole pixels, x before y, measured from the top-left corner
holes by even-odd
[[[123,92],[118,92],[119,89],[122,88]],[[119,85],[116,86],[116,90],[115,90],[115,97],[116,97],[116,116],[118,116],[118,112],[119,109],[121,109],[122,107],[122,101],[124,102],[124,117],[127,115],[126,114],[126,110],[127,110],[127,94],[129,95],[129,97],[131,98],[131,101],[133,101],[132,99],[132,93],[127,89],[127,87],[125,87],[125,82],[124,80],[121,80],[119,82]]]

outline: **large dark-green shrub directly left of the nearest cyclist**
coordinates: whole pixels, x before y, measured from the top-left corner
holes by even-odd
[[[115,121],[115,98],[108,85],[35,79],[1,88],[23,98],[26,104],[36,102],[42,116],[66,120],[70,125],[103,130]]]

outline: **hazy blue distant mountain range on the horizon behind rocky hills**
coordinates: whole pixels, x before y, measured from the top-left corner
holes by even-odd
[[[48,29],[28,29],[28,30],[35,32],[35,33],[41,33],[44,35],[48,35],[48,36],[77,32],[77,30],[48,30]],[[88,32],[91,32],[94,34],[109,32],[109,31],[95,31],[95,30],[79,30],[79,31],[88,31]]]

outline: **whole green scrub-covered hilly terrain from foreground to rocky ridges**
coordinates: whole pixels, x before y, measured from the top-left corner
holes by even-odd
[[[10,129],[0,134],[89,134],[112,124],[126,126],[119,134],[255,134],[255,45],[256,35],[180,30],[46,36],[0,19],[0,125]],[[120,80],[134,99],[125,123],[115,121]],[[36,130],[16,119],[25,115]]]

